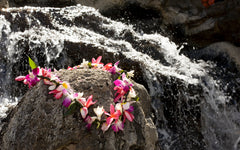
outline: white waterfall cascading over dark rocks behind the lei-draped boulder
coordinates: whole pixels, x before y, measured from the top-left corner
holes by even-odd
[[[27,73],[27,55],[57,69],[103,55],[103,61],[120,59],[121,68],[134,69],[135,80],[149,90],[161,149],[238,148],[239,110],[229,104],[233,98],[222,81],[209,73],[214,63],[179,54],[160,34],[135,32],[81,5],[5,9],[0,30],[1,118],[27,90],[14,81]]]

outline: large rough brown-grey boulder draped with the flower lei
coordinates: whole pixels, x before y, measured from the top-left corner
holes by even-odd
[[[110,73],[101,70],[62,70],[58,74],[74,90],[84,92],[84,96],[93,94],[94,100],[109,110],[114,94]],[[141,102],[134,104],[135,121],[126,123],[123,132],[114,134],[108,130],[103,134],[96,129],[96,125],[87,131],[79,112],[64,117],[66,109],[62,106],[62,100],[49,95],[47,86],[40,82],[24,95],[10,114],[8,123],[1,131],[1,149],[154,150],[156,127],[145,115],[149,113],[150,97],[142,85],[134,85],[141,96]]]

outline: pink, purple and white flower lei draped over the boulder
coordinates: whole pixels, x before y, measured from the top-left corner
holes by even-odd
[[[68,108],[65,115],[72,114],[80,106],[80,113],[82,119],[87,123],[87,129],[90,129],[91,125],[95,122],[97,123],[97,128],[101,125],[103,132],[107,131],[110,126],[115,132],[118,132],[119,130],[123,131],[126,119],[130,122],[133,121],[134,116],[132,111],[134,108],[131,104],[135,102],[134,100],[139,100],[133,89],[133,84],[129,80],[134,76],[134,71],[125,74],[124,71],[118,67],[119,61],[114,65],[112,65],[112,63],[104,65],[101,63],[102,56],[99,56],[96,60],[92,58],[92,62],[83,59],[80,65],[68,67],[67,70],[93,68],[101,69],[112,74],[119,74],[118,79],[114,81],[114,90],[116,91],[114,98],[115,106],[110,104],[110,113],[105,111],[103,106],[97,106],[93,108],[95,116],[90,116],[88,108],[97,102],[97,100],[93,102],[92,95],[84,98],[83,93],[75,93],[69,83],[61,81],[54,72],[51,72],[51,69],[40,68],[30,57],[28,58],[32,72],[29,71],[29,74],[26,76],[18,76],[15,80],[23,81],[29,88],[35,86],[40,80],[43,80],[44,84],[49,85],[49,94],[53,94],[56,99],[64,97],[62,104]],[[103,115],[105,115],[105,117],[103,117]]]

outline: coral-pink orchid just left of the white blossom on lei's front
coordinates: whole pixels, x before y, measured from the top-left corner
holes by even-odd
[[[97,102],[97,101],[93,102],[92,98],[93,98],[93,96],[91,95],[88,97],[87,101],[85,98],[80,98],[78,100],[80,102],[80,104],[82,104],[82,106],[83,106],[83,108],[80,109],[83,119],[86,118],[86,116],[88,114],[88,108]]]

